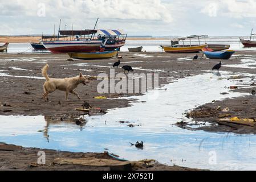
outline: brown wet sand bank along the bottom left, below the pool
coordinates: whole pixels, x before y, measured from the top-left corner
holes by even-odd
[[[38,152],[46,155],[46,163],[38,164]],[[11,144],[0,143],[1,171],[197,171],[198,169],[180,166],[166,166],[155,160],[140,162],[120,162],[107,153],[74,153],[66,151],[47,150],[42,148],[25,148]],[[40,153],[41,154],[41,153]],[[115,154],[112,154],[115,155]],[[116,155],[115,155],[116,156]],[[116,156],[118,157],[118,156]],[[67,160],[81,160],[80,163],[67,163]],[[94,160],[94,164],[84,164]],[[83,163],[82,163],[83,162]],[[104,162],[104,164],[103,164]]]

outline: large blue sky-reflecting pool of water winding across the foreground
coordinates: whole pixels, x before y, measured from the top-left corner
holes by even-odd
[[[84,126],[52,122],[42,116],[0,116],[0,141],[64,151],[103,152],[109,148],[109,152],[128,160],[157,159],[161,163],[193,168],[255,169],[256,135],[189,131],[172,125],[188,121],[182,115],[187,109],[245,95],[236,92],[221,95],[229,92],[226,86],[234,85],[234,81],[220,79],[229,73],[221,74],[186,77],[144,96],[128,97],[139,102],[132,107],[109,110],[105,115],[87,117]],[[140,126],[131,128],[127,126],[129,123],[119,121]],[[144,150],[129,144],[141,140]],[[217,157],[216,164],[209,163],[212,154]]]

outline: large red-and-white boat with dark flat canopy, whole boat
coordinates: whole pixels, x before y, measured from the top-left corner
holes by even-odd
[[[59,34],[67,36],[66,40],[59,40],[58,37],[56,41],[42,41],[42,44],[52,53],[96,52],[100,51],[102,40],[93,40],[92,36],[85,38],[96,33],[97,30],[60,30]],[[80,40],[80,36],[84,36],[83,40]]]

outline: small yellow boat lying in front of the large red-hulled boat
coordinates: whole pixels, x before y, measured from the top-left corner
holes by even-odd
[[[117,55],[117,51],[105,51],[105,52],[68,52],[68,55],[74,59],[109,59]]]

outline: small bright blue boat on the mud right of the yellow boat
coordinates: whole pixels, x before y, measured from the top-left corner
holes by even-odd
[[[230,59],[235,51],[227,50],[227,51],[213,51],[210,48],[202,48],[202,51],[206,57],[209,59]]]

